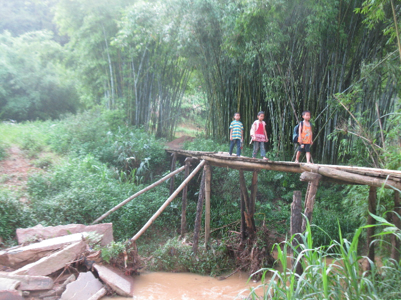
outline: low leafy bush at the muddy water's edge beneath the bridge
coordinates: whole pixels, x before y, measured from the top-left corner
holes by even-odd
[[[151,253],[148,262],[150,270],[194,272],[200,274],[219,275],[230,267],[226,247],[216,240],[206,249],[204,243],[199,241],[196,255],[192,246],[178,240],[176,237]]]

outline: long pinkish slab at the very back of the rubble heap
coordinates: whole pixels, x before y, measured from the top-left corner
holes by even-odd
[[[64,236],[74,233],[92,232],[95,231],[98,234],[102,234],[101,245],[106,245],[113,241],[113,223],[101,223],[95,225],[83,225],[83,224],[68,224],[58,226],[47,226],[44,227],[42,224],[36,225],[31,228],[18,228],[17,229],[17,240],[19,244],[35,239],[48,239],[58,236]]]

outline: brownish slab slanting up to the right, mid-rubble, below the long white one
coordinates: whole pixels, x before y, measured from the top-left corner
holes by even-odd
[[[81,233],[79,233],[81,234]],[[77,256],[86,249],[86,243],[80,240],[76,243],[32,262],[22,268],[11,272],[14,275],[46,276],[63,267],[69,262],[75,261]]]

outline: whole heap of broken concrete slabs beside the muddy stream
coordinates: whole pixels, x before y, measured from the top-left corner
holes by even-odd
[[[0,250],[0,299],[97,300],[132,297],[136,269],[125,253],[115,266],[102,260],[95,242],[113,241],[112,223],[37,225],[17,229],[19,245]],[[29,243],[33,242],[33,243]],[[135,256],[134,256],[135,257]],[[116,262],[116,260],[114,260]],[[121,265],[122,264],[122,265]]]

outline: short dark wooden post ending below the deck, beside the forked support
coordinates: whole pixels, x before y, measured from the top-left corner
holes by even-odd
[[[302,193],[300,190],[294,190],[294,194],[292,196],[292,203],[291,203],[291,223],[290,223],[290,229],[291,229],[291,237],[292,239],[292,246],[295,248],[299,244],[299,233],[302,232]],[[295,272],[298,275],[301,275],[303,272],[302,265],[301,263],[298,263],[295,265],[295,261],[297,260],[297,257],[294,257],[294,251],[292,251],[292,258],[291,258],[291,267],[294,270],[295,266]]]

